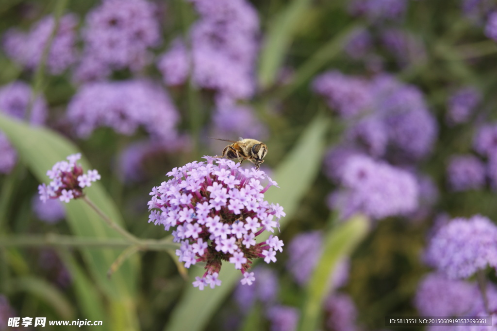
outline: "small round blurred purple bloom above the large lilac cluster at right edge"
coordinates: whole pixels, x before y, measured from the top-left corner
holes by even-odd
[[[485,185],[485,165],[476,156],[452,156],[447,180],[454,191],[479,190]]]

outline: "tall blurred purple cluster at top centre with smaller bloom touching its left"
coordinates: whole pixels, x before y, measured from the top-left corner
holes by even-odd
[[[246,0],[191,0],[200,19],[190,30],[191,49],[176,40],[159,60],[166,84],[193,82],[233,99],[254,92],[257,12]]]

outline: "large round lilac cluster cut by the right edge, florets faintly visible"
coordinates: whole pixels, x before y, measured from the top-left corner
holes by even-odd
[[[480,215],[454,219],[433,236],[426,260],[450,279],[470,277],[487,266],[497,268],[497,226]]]

